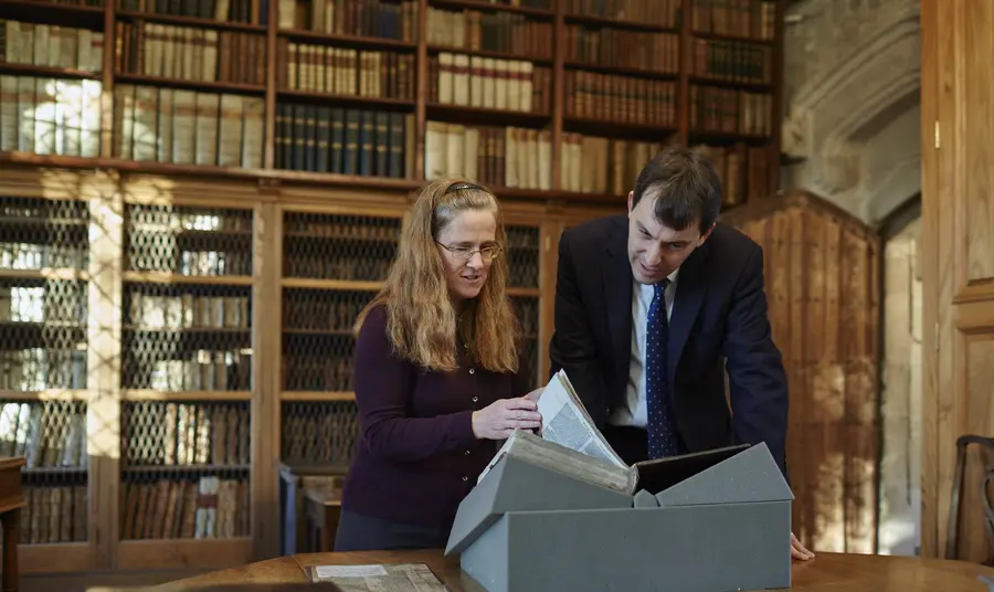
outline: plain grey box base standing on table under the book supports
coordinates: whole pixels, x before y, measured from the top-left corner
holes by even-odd
[[[791,585],[791,504],[507,512],[463,571],[488,592],[726,592]]]

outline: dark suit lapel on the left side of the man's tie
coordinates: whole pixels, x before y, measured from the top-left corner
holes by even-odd
[[[601,271],[604,304],[617,376],[628,376],[632,351],[632,266],[628,263],[627,219],[616,223],[607,237],[607,258]],[[611,385],[607,385],[611,388]]]

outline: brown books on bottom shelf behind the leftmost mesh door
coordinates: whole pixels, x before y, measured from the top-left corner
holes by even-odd
[[[20,545],[84,542],[89,504],[86,485],[24,486]]]

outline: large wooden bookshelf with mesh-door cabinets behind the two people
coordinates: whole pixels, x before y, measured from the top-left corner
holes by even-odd
[[[656,150],[710,154],[726,208],[779,187],[782,0],[313,2],[0,3],[0,246],[85,255],[0,249],[0,370],[39,343],[73,368],[4,370],[0,412],[85,420],[85,453],[25,469],[23,571],[273,557],[278,463],[348,465],[351,325],[425,179],[505,204],[536,384],[560,233]],[[11,288],[88,316],[14,321]],[[73,521],[44,530],[55,490]]]

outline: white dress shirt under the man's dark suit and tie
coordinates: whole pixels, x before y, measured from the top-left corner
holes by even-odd
[[[673,313],[673,299],[676,295],[676,269],[669,274],[669,285],[663,297],[666,299],[666,319],[669,321]],[[646,401],[645,401],[645,329],[649,305],[653,304],[655,288],[633,279],[632,288],[632,357],[628,363],[628,385],[625,389],[625,403],[618,405],[607,423],[611,425],[634,425],[645,427]]]

